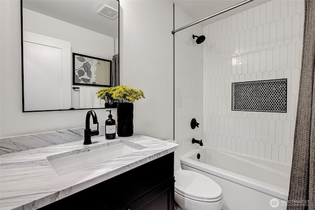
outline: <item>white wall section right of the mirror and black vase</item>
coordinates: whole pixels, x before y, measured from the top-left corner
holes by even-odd
[[[134,103],[134,132],[173,138],[173,4],[121,0],[121,85],[141,89]]]

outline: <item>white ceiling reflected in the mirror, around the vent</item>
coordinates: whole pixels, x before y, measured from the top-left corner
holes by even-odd
[[[23,0],[23,7],[104,35],[118,38],[118,18],[97,14],[107,5],[118,10],[117,0]]]

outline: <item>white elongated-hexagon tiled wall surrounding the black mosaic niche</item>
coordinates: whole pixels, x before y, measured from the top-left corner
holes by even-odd
[[[303,0],[272,0],[204,27],[206,145],[291,162],[303,23]],[[283,78],[287,113],[231,111],[231,83]]]

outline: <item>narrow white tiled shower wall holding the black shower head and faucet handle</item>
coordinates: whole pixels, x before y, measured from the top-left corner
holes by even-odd
[[[175,29],[194,22],[175,5]],[[175,141],[180,144],[179,153],[185,154],[199,145],[191,139],[203,136],[203,46],[196,44],[192,34],[201,35],[203,27],[195,25],[175,33]],[[190,128],[195,118],[199,128]]]

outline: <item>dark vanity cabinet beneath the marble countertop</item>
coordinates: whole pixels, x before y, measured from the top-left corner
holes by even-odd
[[[174,152],[41,210],[174,210]]]

